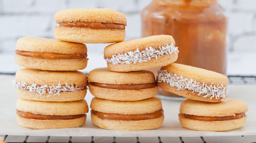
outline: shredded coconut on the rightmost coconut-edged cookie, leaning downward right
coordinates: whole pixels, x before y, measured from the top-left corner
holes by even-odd
[[[220,86],[217,85],[216,87],[215,85],[212,85],[213,83],[211,83],[211,85],[208,86],[204,84],[204,82],[201,84],[200,82],[196,82],[193,79],[183,78],[182,75],[181,77],[177,76],[177,74],[173,75],[171,72],[166,70],[158,71],[157,81],[169,84],[171,87],[178,87],[177,90],[193,90],[192,93],[198,92],[198,95],[203,94],[203,98],[222,98],[221,101],[227,99],[227,87],[224,87],[222,84]]]

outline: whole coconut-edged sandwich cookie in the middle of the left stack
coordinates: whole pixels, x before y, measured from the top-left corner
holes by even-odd
[[[87,75],[80,71],[20,69],[14,86],[17,95],[27,100],[77,101],[86,95]]]

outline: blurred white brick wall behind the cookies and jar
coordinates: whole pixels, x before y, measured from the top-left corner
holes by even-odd
[[[126,15],[126,40],[140,37],[140,11],[151,0],[0,0],[0,52],[13,52],[16,40],[54,38],[54,14],[67,8],[113,8]],[[230,52],[256,52],[256,0],[219,0],[229,16]],[[108,44],[87,44],[103,53]]]

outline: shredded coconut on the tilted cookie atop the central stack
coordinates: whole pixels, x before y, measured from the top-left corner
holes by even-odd
[[[159,49],[152,48],[151,46],[149,48],[146,48],[145,51],[139,51],[139,47],[136,51],[130,51],[126,53],[122,53],[119,55],[112,55],[112,58],[104,58],[107,62],[110,62],[114,65],[118,64],[132,64],[132,63],[141,63],[141,62],[147,62],[153,57],[163,56],[163,55],[172,55],[173,53],[177,54],[179,53],[178,47],[175,47],[173,43],[171,45],[164,45],[160,46]]]

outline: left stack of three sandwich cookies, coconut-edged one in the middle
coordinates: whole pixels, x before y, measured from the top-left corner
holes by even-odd
[[[45,38],[20,38],[15,61],[17,122],[26,128],[71,128],[86,121],[87,75],[76,71],[87,65],[87,48]]]

